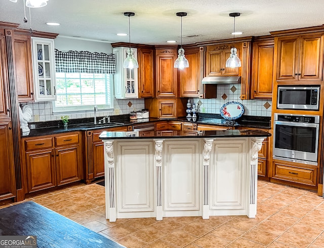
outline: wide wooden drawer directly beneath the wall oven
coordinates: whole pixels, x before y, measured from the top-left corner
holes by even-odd
[[[278,162],[273,162],[273,167],[273,178],[307,185],[316,185],[316,167],[290,166]]]

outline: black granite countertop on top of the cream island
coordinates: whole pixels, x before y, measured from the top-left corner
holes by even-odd
[[[173,131],[172,136],[161,136],[160,131],[152,131],[150,134],[142,135],[141,131],[137,132],[108,132],[103,131],[99,138],[103,140],[109,139],[145,139],[145,138],[234,138],[234,137],[267,137],[270,133],[255,130],[208,130],[208,131]]]

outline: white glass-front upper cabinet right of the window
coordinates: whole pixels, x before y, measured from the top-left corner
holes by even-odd
[[[138,98],[138,68],[124,68],[128,47],[113,48],[116,58],[116,74],[114,75],[115,98]],[[132,48],[137,60],[137,49]]]

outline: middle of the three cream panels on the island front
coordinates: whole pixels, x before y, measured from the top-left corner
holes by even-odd
[[[199,216],[200,140],[165,141],[164,147],[164,216]]]

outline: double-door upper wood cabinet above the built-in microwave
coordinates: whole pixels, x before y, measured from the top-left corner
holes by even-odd
[[[276,37],[276,81],[321,81],[323,33]]]

